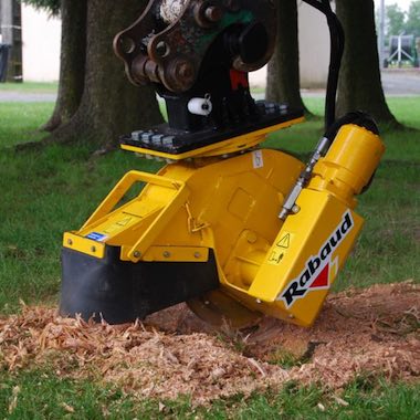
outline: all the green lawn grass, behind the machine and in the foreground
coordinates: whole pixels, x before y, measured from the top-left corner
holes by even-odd
[[[34,85],[34,90],[41,87]],[[314,113],[322,113],[322,99],[307,98],[306,103]],[[420,97],[392,97],[389,105],[399,120],[420,130]],[[35,129],[52,108],[52,103],[0,104],[3,314],[18,311],[20,298],[30,304],[55,304],[62,232],[77,229],[126,171],[155,171],[159,167],[125,151],[91,158],[92,149],[86,146],[15,153],[11,146],[40,138]],[[304,156],[321,135],[322,120],[315,118],[273,135],[266,146]],[[387,154],[358,208],[367,223],[336,290],[419,281],[420,132],[385,132],[384,139]],[[13,389],[19,393],[19,403],[9,416]],[[348,406],[319,389],[291,384],[280,393],[255,395],[245,402],[240,397],[217,401],[209,410],[195,410],[188,400],[179,400],[164,401],[165,408],[159,411],[159,401],[138,402],[117,388],[59,379],[54,372],[34,370],[0,372],[0,418],[416,419],[420,417],[419,391],[419,386],[370,384],[360,378],[342,395]]]

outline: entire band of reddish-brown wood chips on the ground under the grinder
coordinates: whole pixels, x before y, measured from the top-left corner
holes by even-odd
[[[189,395],[196,405],[281,387],[342,388],[357,375],[418,380],[420,290],[411,282],[330,295],[313,328],[273,318],[216,333],[186,305],[120,326],[23,306],[0,318],[0,369],[49,366],[57,376],[122,387],[140,398]],[[281,365],[291,355],[294,366]],[[274,363],[274,364],[273,364]]]

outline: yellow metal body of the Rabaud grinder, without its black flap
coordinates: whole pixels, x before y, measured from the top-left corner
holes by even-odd
[[[118,246],[132,264],[204,264],[213,252],[220,300],[309,326],[355,245],[364,222],[355,195],[384,149],[371,132],[343,126],[284,221],[280,209],[305,166],[282,151],[179,161],[157,175],[130,171],[63,245],[98,260],[106,246]],[[141,192],[115,208],[136,182],[145,183]]]

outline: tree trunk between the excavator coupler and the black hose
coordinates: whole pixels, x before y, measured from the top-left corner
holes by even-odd
[[[267,67],[265,97],[307,113],[300,88],[297,3],[277,0],[277,41]]]

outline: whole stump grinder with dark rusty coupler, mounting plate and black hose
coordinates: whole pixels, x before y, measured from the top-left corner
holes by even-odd
[[[332,40],[326,132],[306,165],[259,148],[303,120],[302,109],[250,94],[248,73],[273,54],[275,1],[151,0],[117,34],[129,80],[154,84],[168,111],[167,124],[122,148],[168,165],[126,174],[64,234],[62,315],[117,324],[187,302],[216,325],[262,314],[314,323],[363,227],[355,196],[385,148],[368,115],[335,119],[343,30],[328,0],[305,1]]]

